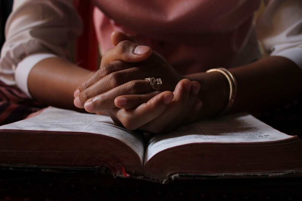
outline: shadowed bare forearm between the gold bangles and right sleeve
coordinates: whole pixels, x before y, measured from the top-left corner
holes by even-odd
[[[284,57],[266,57],[230,71],[238,82],[232,112],[261,112],[278,107],[302,93],[302,70]]]

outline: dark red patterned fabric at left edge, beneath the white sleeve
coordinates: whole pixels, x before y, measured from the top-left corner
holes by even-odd
[[[43,107],[45,105],[30,99],[19,88],[0,81],[0,125],[25,119]]]

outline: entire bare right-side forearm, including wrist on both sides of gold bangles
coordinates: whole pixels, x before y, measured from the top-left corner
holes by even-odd
[[[302,93],[302,70],[291,60],[270,56],[249,65],[229,69],[237,80],[237,96],[230,113],[257,113],[297,97]],[[187,76],[201,83],[203,107],[198,118],[211,117],[225,107],[229,86],[219,72]]]

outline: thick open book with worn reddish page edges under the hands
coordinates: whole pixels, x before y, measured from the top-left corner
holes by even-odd
[[[110,117],[48,107],[0,127],[0,166],[108,168],[159,182],[187,177],[301,173],[302,140],[248,114],[223,116],[167,134],[133,132]]]

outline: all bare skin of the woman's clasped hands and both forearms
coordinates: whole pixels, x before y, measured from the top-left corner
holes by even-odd
[[[177,126],[215,116],[226,105],[230,89],[221,73],[179,75],[151,49],[138,48],[133,36],[114,32],[111,40],[115,47],[104,54],[97,72],[59,58],[38,63],[28,78],[33,97],[69,109],[74,108],[75,97],[74,104],[80,109],[106,111],[127,129],[150,132],[169,132]],[[139,54],[137,48],[141,49]],[[302,93],[302,71],[284,57],[265,57],[230,72],[238,84],[230,113],[260,112]],[[150,76],[162,78],[162,92],[155,92],[144,80]]]

